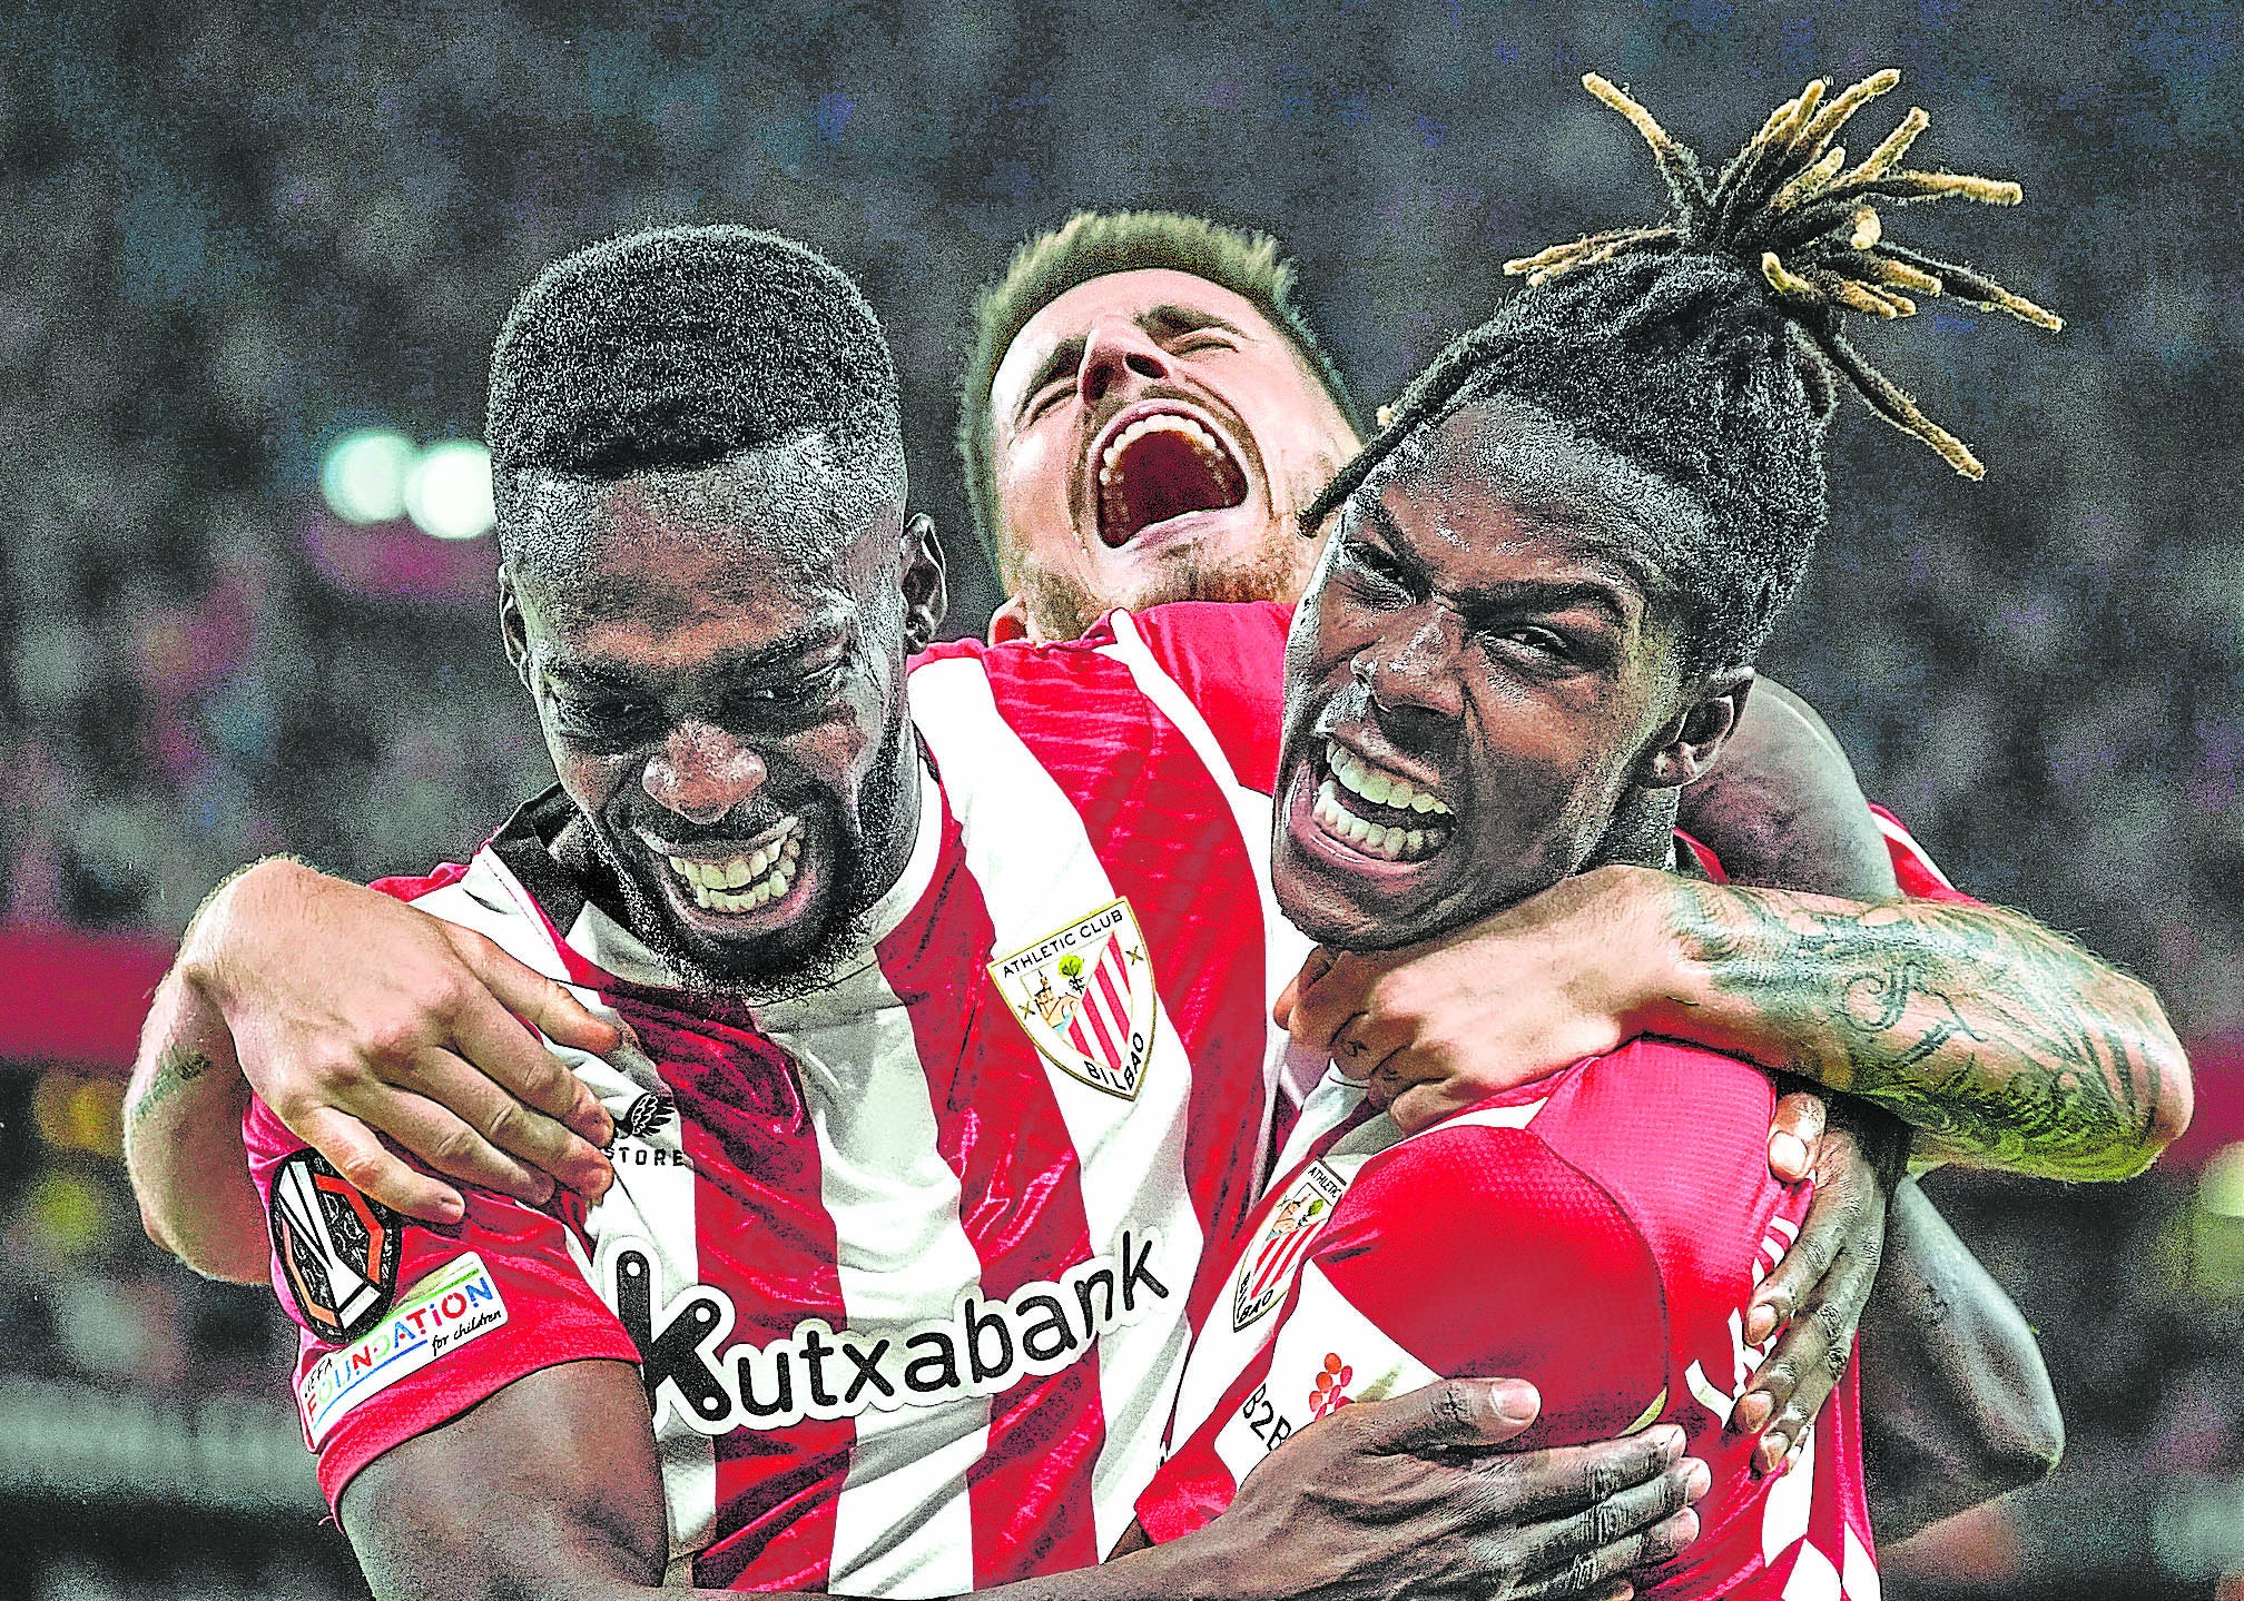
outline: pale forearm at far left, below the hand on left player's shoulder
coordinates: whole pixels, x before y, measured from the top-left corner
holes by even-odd
[[[249,1085],[227,1020],[175,966],[141,1025],[126,1168],[148,1238],[206,1278],[263,1283],[265,1213],[242,1153]]]

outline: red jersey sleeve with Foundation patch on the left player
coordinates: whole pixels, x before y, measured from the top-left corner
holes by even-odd
[[[242,1117],[272,1229],[272,1283],[296,1323],[296,1410],[334,1509],[384,1451],[440,1428],[539,1368],[640,1361],[586,1278],[577,1224],[460,1186],[435,1227],[361,1195],[263,1103]]]

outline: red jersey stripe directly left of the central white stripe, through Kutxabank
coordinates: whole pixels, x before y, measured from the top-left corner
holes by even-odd
[[[788,1054],[756,1034],[745,1014],[727,1018],[709,998],[687,1014],[660,991],[613,984],[608,1002],[678,1096],[696,1168],[700,1283],[725,1287],[736,1310],[727,1341],[785,1339],[806,1316],[842,1327],[839,1242],[819,1191],[817,1135]],[[664,1285],[669,1296],[680,1289]],[[693,1558],[693,1583],[824,1590],[835,1500],[855,1437],[848,1419],[718,1435],[718,1536]]]

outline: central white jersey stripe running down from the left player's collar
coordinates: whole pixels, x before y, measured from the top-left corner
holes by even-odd
[[[913,1323],[949,1316],[981,1289],[981,1258],[958,1222],[958,1175],[936,1146],[911,1014],[875,964],[812,1002],[758,1007],[756,1025],[801,1067],[839,1242],[844,1327],[902,1339]],[[965,1475],[990,1449],[990,1399],[866,1408],[855,1422],[828,1588],[965,1594],[974,1588]]]

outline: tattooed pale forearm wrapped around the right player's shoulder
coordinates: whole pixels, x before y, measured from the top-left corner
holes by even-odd
[[[1990,906],[1654,886],[1640,1022],[1883,1105],[1921,1150],[2064,1179],[2141,1173],[2190,1121],[2150,989]]]

